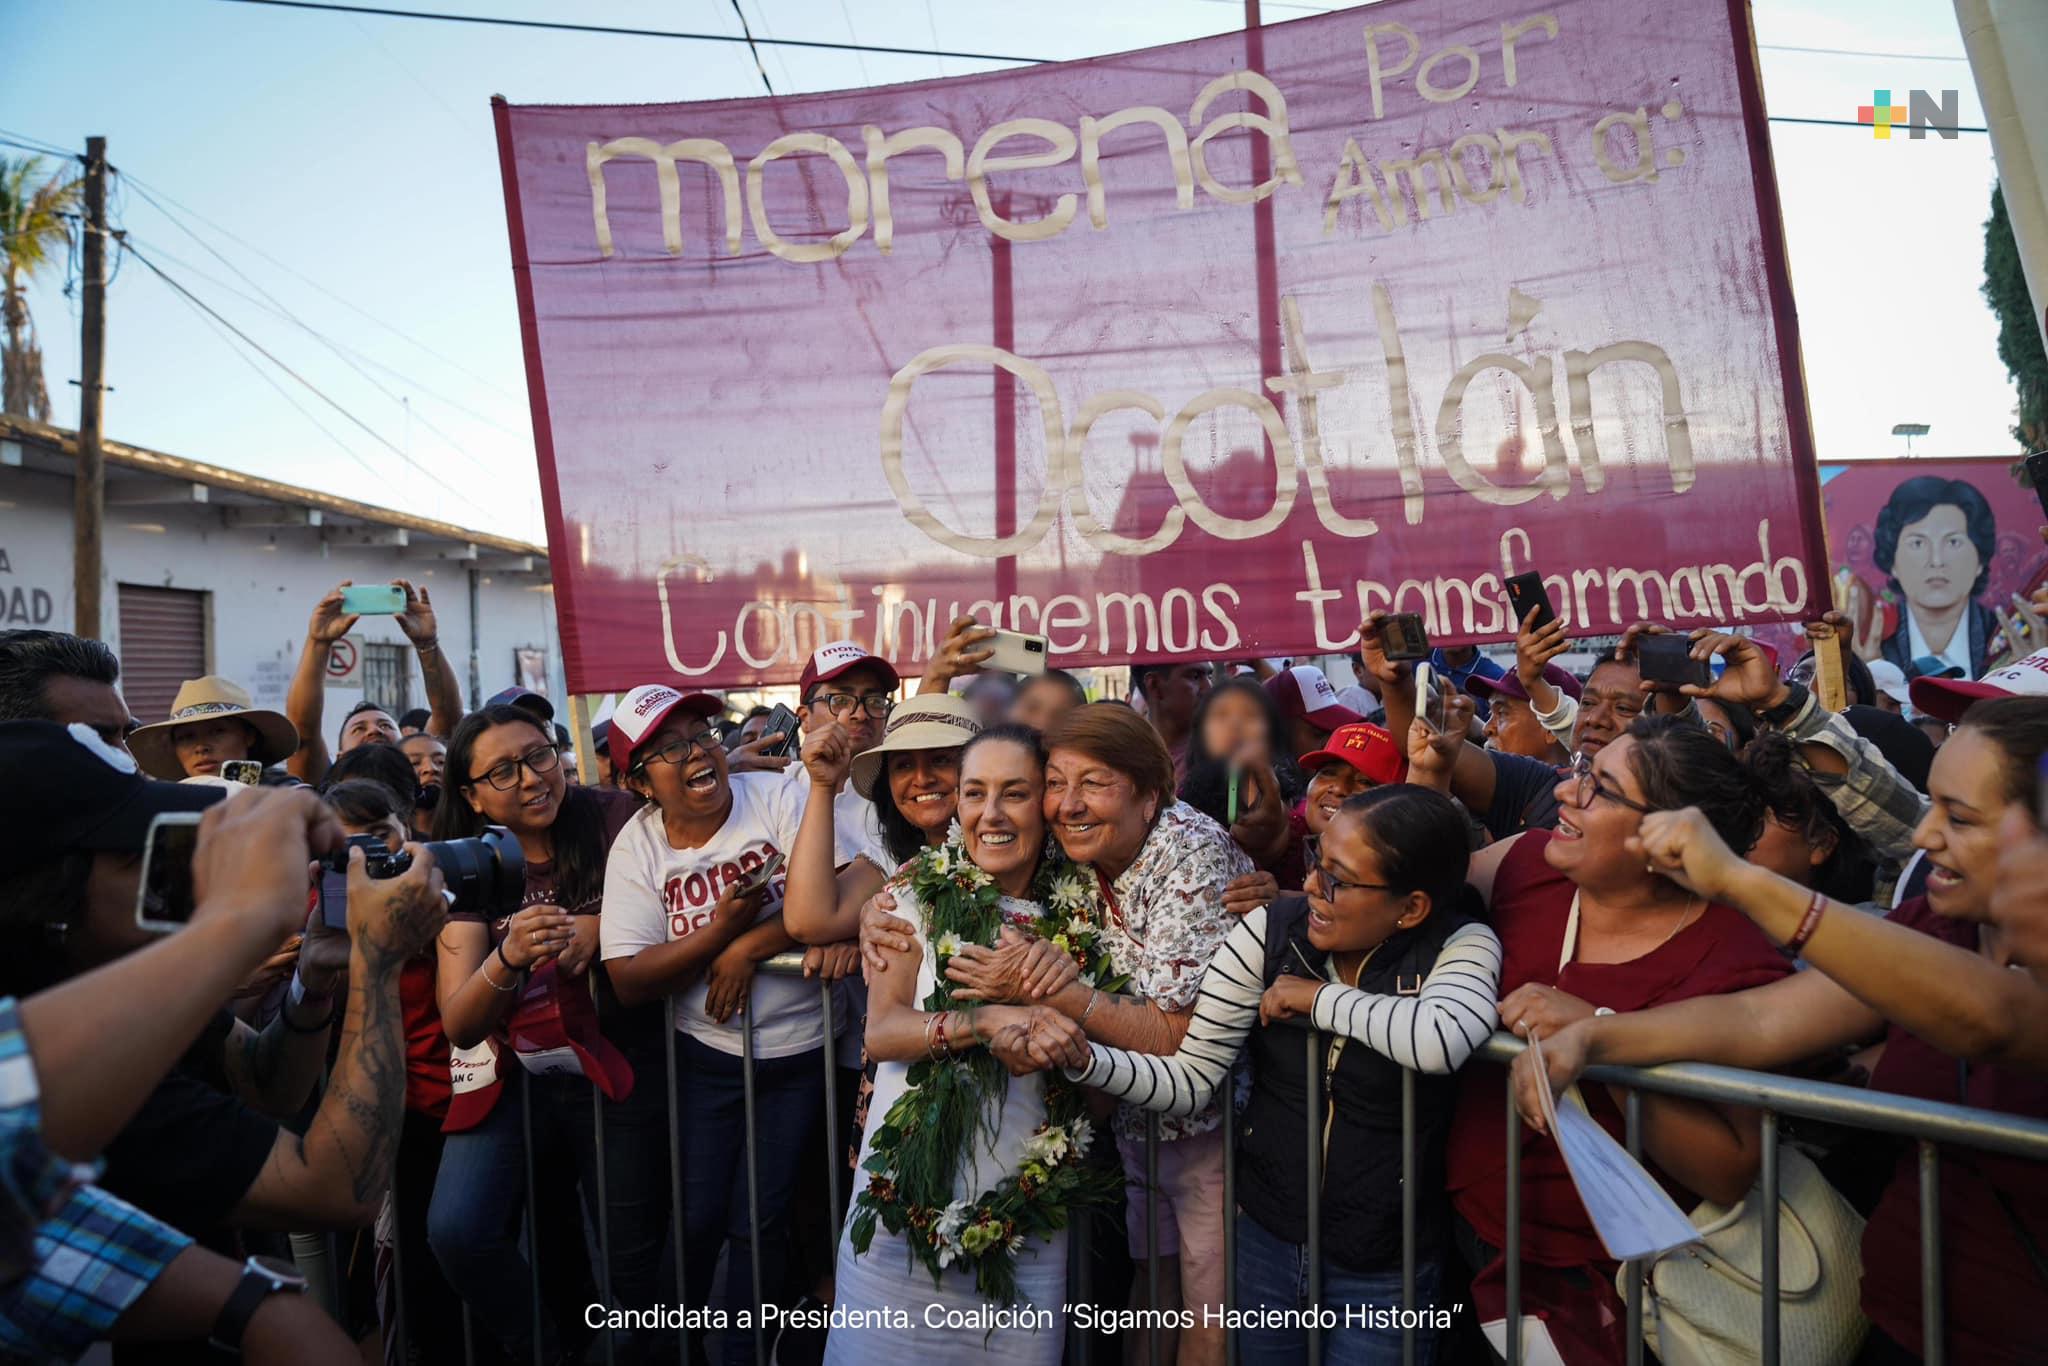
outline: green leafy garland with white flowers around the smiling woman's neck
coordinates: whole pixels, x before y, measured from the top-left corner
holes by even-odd
[[[995,944],[1006,924],[1001,891],[967,856],[958,823],[942,846],[918,854],[895,883],[918,897],[932,944],[934,985],[924,1008],[952,1010],[946,961],[965,944]],[[1067,862],[1051,840],[1028,899],[1036,915],[1012,915],[1010,924],[1069,954],[1090,987],[1116,991],[1128,981],[1102,946],[1094,879]],[[1018,1169],[975,1200],[956,1200],[952,1180],[961,1155],[977,1133],[993,1141],[1010,1075],[987,1049],[969,1049],[913,1063],[907,1081],[862,1163],[868,1186],[854,1196],[854,1251],[866,1253],[877,1223],[889,1233],[907,1231],[905,1243],[932,1272],[934,1286],[948,1266],[971,1266],[983,1298],[1016,1305],[1016,1253],[1024,1241],[1049,1241],[1067,1227],[1071,1210],[1118,1198],[1120,1173],[1081,1161],[1094,1139],[1081,1092],[1057,1069],[1049,1071],[1047,1118],[1024,1141]]]

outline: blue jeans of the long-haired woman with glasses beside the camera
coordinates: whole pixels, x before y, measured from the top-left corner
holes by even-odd
[[[600,1100],[604,1110],[604,1210],[608,1260],[590,1251],[588,1266],[596,1276],[608,1262],[610,1303],[616,1307],[647,1307],[662,1298],[662,1243],[668,1233],[668,1096],[662,1087],[662,1065],[635,1059],[637,1083],[627,1100]],[[573,1323],[561,1323],[565,1311],[559,1276],[586,1266],[584,1257],[567,1255],[543,1223],[539,1262],[543,1307],[532,1300],[532,1268],[520,1249],[526,1212],[526,1139],[522,1112],[532,1106],[532,1169],[537,1188],[561,1190],[573,1180],[582,1192],[582,1210],[590,1237],[598,1231],[598,1133],[592,1108],[592,1085],[573,1075],[528,1075],[510,1055],[502,1061],[506,1085],[489,1116],[471,1130],[449,1135],[440,1153],[440,1173],[434,1180],[434,1200],[428,1208],[428,1243],[434,1260],[457,1294],[467,1300],[471,1321],[518,1362],[535,1356],[535,1321],[539,1319],[541,1360],[555,1360],[565,1343],[588,1337],[578,1313]],[[582,1241],[582,1239],[578,1239]],[[582,1253],[582,1247],[567,1249]],[[553,1303],[553,1309],[549,1307]],[[631,1343],[621,1335],[614,1343],[631,1356]]]

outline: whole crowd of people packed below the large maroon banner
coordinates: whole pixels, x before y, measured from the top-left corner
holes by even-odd
[[[795,735],[633,688],[578,782],[551,702],[465,709],[395,586],[430,705],[332,750],[340,588],[283,711],[199,678],[141,725],[104,643],[0,633],[0,1356],[676,1362],[690,1311],[692,1360],[1057,1362],[1085,1298],[1126,1360],[1221,1364],[1229,1305],[1241,1360],[1294,1362],[1411,1276],[1464,1311],[1339,1317],[1327,1360],[1487,1362],[1518,1255],[1522,1341],[1624,1362],[1546,1116],[1634,1106],[1696,1223],[1774,1130],[1587,1067],[2048,1118],[2048,649],[1849,655],[1833,711],[1749,635],[1694,631],[1710,682],[1671,686],[1663,627],[1530,614],[1419,696],[1370,616],[1341,690],[1141,661],[1092,700],[961,621],[920,680],[817,649]],[[166,934],[137,907],[180,817]],[[1542,1044],[1511,1090],[1495,1030]],[[1827,1360],[1919,1360],[1915,1147],[1778,1141],[1862,1286]],[[2048,1358],[2048,1169],[1946,1147],[1937,1210],[1950,1360]]]

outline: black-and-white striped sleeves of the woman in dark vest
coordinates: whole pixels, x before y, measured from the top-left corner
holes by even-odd
[[[1266,993],[1266,907],[1239,920],[1202,977],[1194,1018],[1169,1057],[1090,1044],[1069,1077],[1161,1114],[1192,1114],[1223,1085]],[[1499,1022],[1501,942],[1470,924],[1444,942],[1419,995],[1380,995],[1339,983],[1315,993],[1315,1028],[1343,1034],[1403,1067],[1450,1073]]]

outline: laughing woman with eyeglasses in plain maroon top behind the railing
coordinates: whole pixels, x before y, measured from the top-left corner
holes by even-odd
[[[1444,758],[1411,752],[1411,764],[1436,768]],[[1741,991],[1786,975],[1784,956],[1741,911],[1690,893],[1630,850],[1645,815],[1681,807],[1700,807],[1731,848],[1757,842],[1763,801],[1704,727],[1638,719],[1595,754],[1573,756],[1556,803],[1556,829],[1473,856],[1473,885],[1503,948],[1503,1028],[1544,1038],[1595,1012]],[[1473,1298],[1483,1323],[1501,1319],[1505,1305],[1503,1104],[1499,1073],[1468,1075],[1450,1135],[1458,1249],[1477,1272]],[[1622,1110],[1606,1087],[1585,1087],[1585,1106],[1622,1137]],[[1737,1202],[1757,1176],[1757,1118],[1735,1106],[1645,1094],[1642,1159],[1681,1206],[1700,1196]],[[1567,1362],[1622,1362],[1626,1315],[1614,1270],[1556,1143],[1524,1133],[1524,1331],[1548,1331]],[[1530,1315],[1542,1323],[1532,1327]]]

